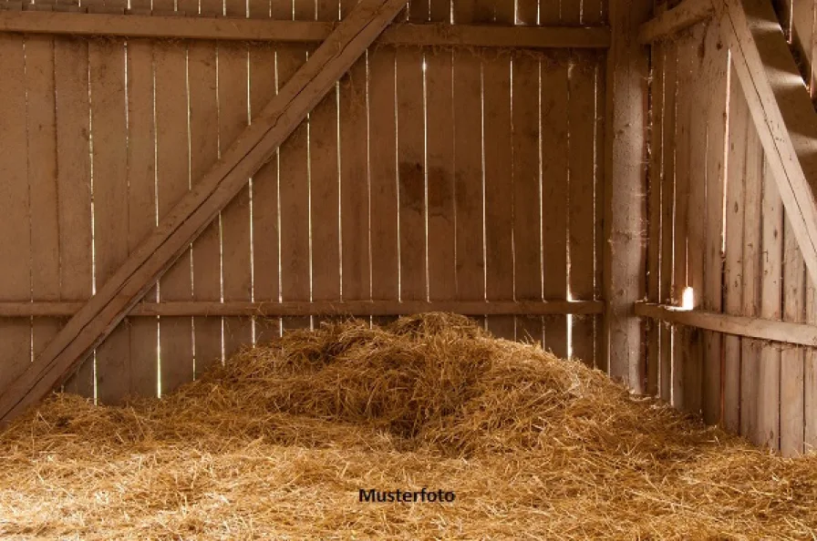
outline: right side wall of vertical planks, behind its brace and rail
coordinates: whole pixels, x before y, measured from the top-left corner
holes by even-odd
[[[811,55],[815,3],[787,5],[782,26]],[[692,288],[697,309],[817,322],[717,23],[655,44],[652,64],[648,301],[680,305]],[[656,323],[648,348],[652,393],[784,454],[817,444],[817,351]]]

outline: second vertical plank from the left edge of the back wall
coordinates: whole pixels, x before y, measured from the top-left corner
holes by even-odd
[[[31,299],[59,300],[59,217],[57,207],[57,126],[54,41],[26,37],[26,116],[28,187],[31,212]],[[34,357],[45,349],[63,322],[34,318]]]

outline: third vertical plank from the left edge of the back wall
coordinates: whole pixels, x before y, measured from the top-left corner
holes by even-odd
[[[8,61],[13,56],[4,54],[0,58]],[[57,90],[60,300],[87,301],[93,288],[88,41],[57,39],[54,72]],[[4,68],[3,73],[11,72]],[[0,117],[9,118],[5,114]],[[65,390],[85,397],[94,396],[92,359],[80,365],[77,373],[67,380]]]

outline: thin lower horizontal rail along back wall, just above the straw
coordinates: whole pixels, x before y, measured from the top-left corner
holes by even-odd
[[[71,317],[84,302],[0,302],[0,318]],[[595,315],[605,311],[601,301],[544,302],[140,302],[129,317],[287,317],[309,315],[388,316],[446,311],[463,315]]]

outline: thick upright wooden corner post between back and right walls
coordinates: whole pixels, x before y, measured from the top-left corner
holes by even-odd
[[[646,86],[648,55],[638,27],[649,0],[611,0],[605,179],[605,356],[610,375],[645,389],[642,326],[634,303],[646,290]]]

